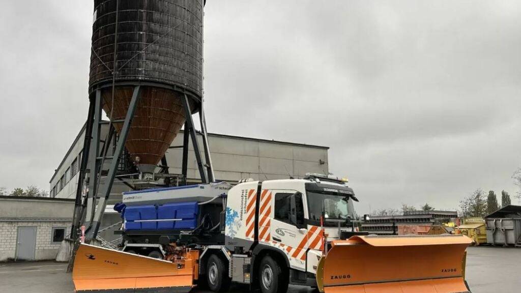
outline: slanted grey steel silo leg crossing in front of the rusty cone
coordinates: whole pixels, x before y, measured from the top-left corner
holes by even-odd
[[[103,214],[105,213],[105,207],[107,206],[107,199],[110,196],[110,190],[112,189],[114,178],[116,176],[116,171],[118,169],[119,157],[123,153],[123,150],[125,150],[125,141],[127,140],[130,126],[132,124],[132,119],[134,118],[135,109],[138,106],[140,92],[140,86],[134,87],[134,92],[132,93],[132,100],[130,101],[127,116],[125,117],[123,128],[121,129],[121,132],[119,134],[116,149],[114,150],[113,158],[110,161],[110,167],[107,170],[107,177],[105,178],[105,182],[101,188],[100,201],[97,204],[93,222],[90,225],[90,229],[85,233],[86,239],[95,239],[98,230],[100,229],[101,220]]]

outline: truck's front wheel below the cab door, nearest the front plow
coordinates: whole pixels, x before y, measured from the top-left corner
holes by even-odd
[[[262,293],[286,293],[288,273],[282,271],[276,260],[266,255],[258,268],[259,285]]]

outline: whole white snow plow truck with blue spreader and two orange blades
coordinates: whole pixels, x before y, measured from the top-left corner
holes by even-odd
[[[204,193],[209,192],[209,193]],[[168,194],[168,196],[162,196]],[[205,195],[206,194],[206,195]],[[346,180],[244,180],[123,194],[121,250],[82,243],[77,292],[188,292],[204,282],[263,293],[288,284],[320,292],[470,292],[463,235],[376,236],[358,231]]]

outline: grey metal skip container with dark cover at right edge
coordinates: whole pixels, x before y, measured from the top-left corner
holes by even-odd
[[[507,205],[486,216],[487,242],[521,246],[521,206]]]

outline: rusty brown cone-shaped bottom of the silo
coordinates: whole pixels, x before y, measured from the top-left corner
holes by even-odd
[[[134,87],[116,87],[114,107],[111,89],[102,90],[103,109],[111,120],[125,119],[132,100]],[[184,124],[184,96],[180,93],[157,87],[141,87],[141,95],[125,146],[132,160],[139,165],[157,165]],[[115,123],[118,133],[122,123]],[[139,157],[139,162],[137,160]]]

